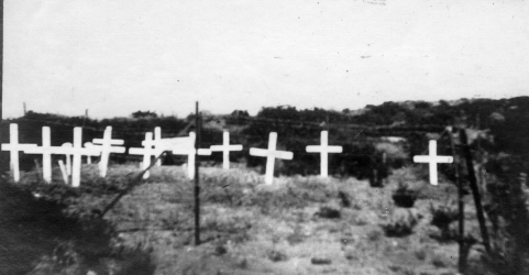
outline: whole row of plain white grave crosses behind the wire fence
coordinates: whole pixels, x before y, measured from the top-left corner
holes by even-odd
[[[66,155],[66,167],[59,161],[60,169],[63,170],[63,176],[65,182],[67,177],[66,174],[71,174],[71,185],[77,187],[80,184],[80,166],[81,156],[86,155],[88,160],[90,156],[101,156],[98,164],[99,173],[101,177],[107,175],[107,167],[109,162],[109,155],[111,153],[125,153],[125,147],[115,146],[123,145],[123,140],[112,140],[112,128],[107,127],[103,133],[103,139],[93,139],[92,143],[85,143],[85,147],[81,145],[82,129],[74,129],[74,144],[65,143],[62,146],[51,146],[51,130],[47,127],[43,127],[42,130],[42,146],[36,146],[36,144],[19,144],[19,132],[18,125],[10,125],[10,143],[2,144],[2,151],[11,152],[11,170],[13,173],[14,182],[20,180],[20,169],[19,169],[19,152],[24,152],[26,154],[42,154],[43,155],[43,179],[47,183],[52,180],[52,154]],[[209,150],[207,148],[195,148],[196,136],[194,132],[189,133],[188,138],[173,138],[173,139],[162,139],[162,129],[155,128],[154,140],[153,133],[145,133],[145,140],[142,142],[143,147],[131,147],[129,148],[129,154],[131,155],[143,155],[143,168],[147,168],[151,164],[151,158],[154,156],[159,156],[163,152],[169,151],[176,155],[187,155],[188,163],[188,177],[190,179],[195,178],[195,156],[198,155],[211,155],[211,152],[222,152],[223,153],[223,164],[224,169],[230,167],[229,154],[231,151],[241,151],[241,144],[230,144],[229,132],[223,133],[222,145],[212,145]],[[329,133],[328,131],[321,132],[321,144],[320,145],[308,145],[306,151],[308,153],[320,153],[320,175],[322,177],[328,177],[329,167],[329,153],[342,153],[342,146],[330,146],[329,144]],[[272,184],[274,178],[274,164],[275,158],[282,160],[293,160],[294,153],[288,151],[277,151],[277,133],[269,133],[268,148],[250,148],[250,155],[266,157],[266,172],[265,172],[265,183]],[[437,155],[437,142],[430,141],[429,144],[429,155],[428,156],[414,156],[414,162],[416,163],[429,163],[430,164],[430,184],[438,185],[438,173],[437,163],[452,163],[452,156],[438,156]],[[69,164],[69,155],[73,155],[73,168]],[[156,162],[157,166],[162,163],[158,160]],[[147,178],[148,172],[144,174],[144,178]]]

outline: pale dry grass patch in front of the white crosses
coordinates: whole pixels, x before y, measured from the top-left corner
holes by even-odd
[[[97,178],[86,168],[87,178]],[[119,185],[135,169],[112,166],[111,179],[98,183]],[[433,189],[411,169],[396,170],[385,188],[371,188],[353,178],[315,176],[279,177],[267,186],[255,172],[201,168],[199,246],[194,245],[194,183],[185,173],[155,167],[106,217],[128,248],[153,250],[155,274],[455,274],[456,244],[430,238],[437,228],[429,210],[431,201],[455,193],[442,183]],[[422,194],[411,209],[422,218],[410,234],[388,238],[382,226],[401,211],[392,195],[403,180]],[[344,196],[350,204],[343,204]],[[88,211],[109,198],[81,194],[74,205]],[[321,215],[322,209],[337,210],[339,218]],[[326,264],[313,264],[319,261]]]

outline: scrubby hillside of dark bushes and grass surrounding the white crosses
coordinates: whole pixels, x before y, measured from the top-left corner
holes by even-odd
[[[111,125],[113,138],[130,147],[141,146],[155,127],[163,138],[188,135],[194,121],[192,114],[178,119],[148,111],[106,120],[27,112],[2,121],[0,140],[9,142],[9,123],[19,124],[21,143],[37,144],[41,127],[48,125],[53,145],[71,142],[74,127],[84,127],[86,142]],[[0,264],[13,271],[9,274],[293,274],[291,266],[298,274],[455,274],[461,241],[469,245],[466,274],[526,274],[525,125],[529,97],[386,102],[356,111],[263,108],[255,117],[241,110],[203,112],[202,147],[221,144],[228,130],[231,143],[244,150],[230,155],[234,169],[229,172],[216,167],[221,154],[202,158],[205,243],[198,248],[192,246],[192,185],[180,166],[168,166],[186,157],[166,157],[165,166],[155,167],[150,179],[100,219],[101,209],[139,172],[140,157],[112,155],[107,178],[98,176],[96,165],[84,165],[81,187],[71,188],[63,185],[57,167],[54,184],[43,185],[34,170],[40,157],[21,154],[22,184],[10,183],[9,174],[1,182],[0,235],[2,255],[9,257]],[[469,135],[469,146],[458,129]],[[343,146],[329,160],[328,180],[315,176],[319,156],[305,152],[319,144],[322,130],[329,131],[330,144]],[[276,184],[265,186],[265,160],[247,151],[266,147],[272,131],[278,133],[278,148],[294,152],[295,158],[276,162]],[[439,187],[427,184],[428,165],[411,162],[428,152],[428,140],[438,140],[438,153],[454,155],[459,163],[439,165]],[[4,166],[8,156],[1,153]],[[471,167],[485,209],[489,253],[470,196]],[[455,222],[458,178],[465,195],[463,237]]]

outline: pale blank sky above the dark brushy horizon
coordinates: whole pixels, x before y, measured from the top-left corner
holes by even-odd
[[[521,0],[4,0],[3,116],[529,96],[528,14]]]

